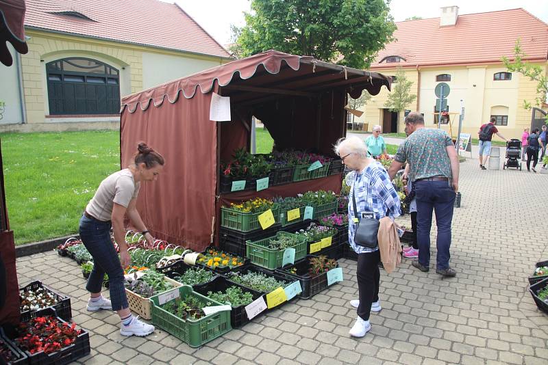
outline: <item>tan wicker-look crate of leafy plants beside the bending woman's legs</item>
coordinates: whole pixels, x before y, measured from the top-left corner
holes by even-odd
[[[153,270],[138,271],[124,276],[125,293],[129,309],[144,319],[151,319],[150,297],[181,286],[179,282],[166,278]]]

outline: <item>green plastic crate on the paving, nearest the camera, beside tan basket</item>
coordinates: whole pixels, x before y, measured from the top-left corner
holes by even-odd
[[[183,285],[179,287],[179,297],[181,299],[184,299],[189,295],[197,297],[200,303],[210,302],[212,303],[212,306],[223,305],[218,301],[213,301],[199,293],[195,293],[195,291],[192,290],[192,286]],[[190,347],[200,347],[232,329],[230,325],[230,312],[228,310],[204,316],[197,321],[192,321],[190,319],[185,321],[162,309],[158,302],[158,297],[159,295],[154,295],[150,298],[152,302],[152,323],[183,340]]]

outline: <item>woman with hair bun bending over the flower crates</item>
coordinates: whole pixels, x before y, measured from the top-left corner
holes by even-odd
[[[123,336],[147,336],[154,331],[148,325],[132,316],[124,288],[124,271],[131,262],[125,243],[124,217],[142,232],[147,245],[152,247],[154,237],[147,230],[136,209],[140,185],[155,181],[164,168],[164,157],[145,142],[140,142],[134,163],[126,169],[114,172],[101,182],[92,200],[80,219],[80,239],[93,256],[93,270],[88,278],[86,290],[90,292],[87,310],[114,310],[121,319],[120,334]],[[110,228],[118,243],[120,257],[110,239]],[[101,295],[103,276],[108,274],[110,299]]]

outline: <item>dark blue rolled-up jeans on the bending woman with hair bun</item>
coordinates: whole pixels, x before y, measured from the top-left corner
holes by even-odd
[[[124,271],[110,239],[110,221],[99,221],[82,215],[79,231],[82,243],[93,257],[93,270],[86,290],[101,293],[103,277],[107,273],[112,310],[129,308],[124,288]]]

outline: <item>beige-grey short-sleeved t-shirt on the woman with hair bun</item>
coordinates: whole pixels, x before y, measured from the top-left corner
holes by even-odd
[[[129,202],[137,198],[139,188],[140,183],[135,183],[129,169],[114,172],[101,181],[95,195],[86,206],[86,211],[100,221],[110,221],[114,203],[127,208]]]

